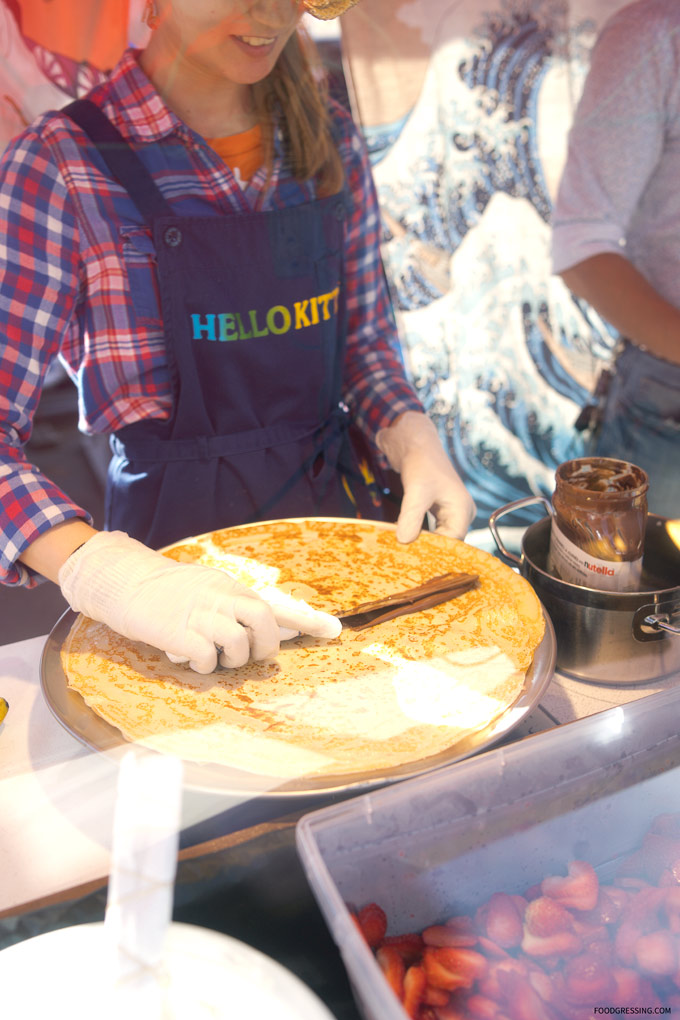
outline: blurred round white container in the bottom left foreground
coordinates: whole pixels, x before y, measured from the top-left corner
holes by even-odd
[[[104,924],[49,931],[0,952],[8,1015],[34,1020],[120,1016]],[[228,935],[168,927],[161,966],[162,1020],[333,1020],[323,1003],[275,960]],[[137,1020],[124,999],[124,1020]],[[142,1012],[140,1003],[140,1014]]]

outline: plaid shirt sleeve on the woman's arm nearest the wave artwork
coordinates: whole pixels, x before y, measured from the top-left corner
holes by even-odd
[[[407,379],[380,257],[380,213],[366,148],[345,114],[341,156],[353,208],[346,241],[348,339],[345,400],[371,440],[404,411],[423,407]]]

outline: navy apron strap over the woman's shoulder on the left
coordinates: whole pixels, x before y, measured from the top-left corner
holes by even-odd
[[[60,112],[83,129],[145,219],[174,215],[140,157],[96,103],[76,99]]]

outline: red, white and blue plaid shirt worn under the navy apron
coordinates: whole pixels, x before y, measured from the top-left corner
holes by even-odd
[[[90,95],[134,145],[177,215],[233,215],[314,198],[280,153],[241,188],[162,102],[127,52]],[[333,104],[354,208],[346,233],[345,399],[374,437],[422,410],[399,355],[379,256],[379,213],[363,143]],[[162,142],[162,145],[154,143]],[[91,163],[65,115],[46,113],[0,162],[0,581],[35,584],[17,562],[41,532],[85,510],[25,461],[45,373],[61,358],[79,388],[80,428],[111,432],[167,418],[171,392],[151,234],[126,193]]]

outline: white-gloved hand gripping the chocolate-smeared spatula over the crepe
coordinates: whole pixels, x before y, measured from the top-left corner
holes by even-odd
[[[272,607],[224,571],[176,563],[122,531],[99,531],[71,553],[59,586],[75,612],[198,673],[215,669],[218,649],[222,666],[273,655],[279,625],[315,638],[342,630],[334,616],[285,596]]]

